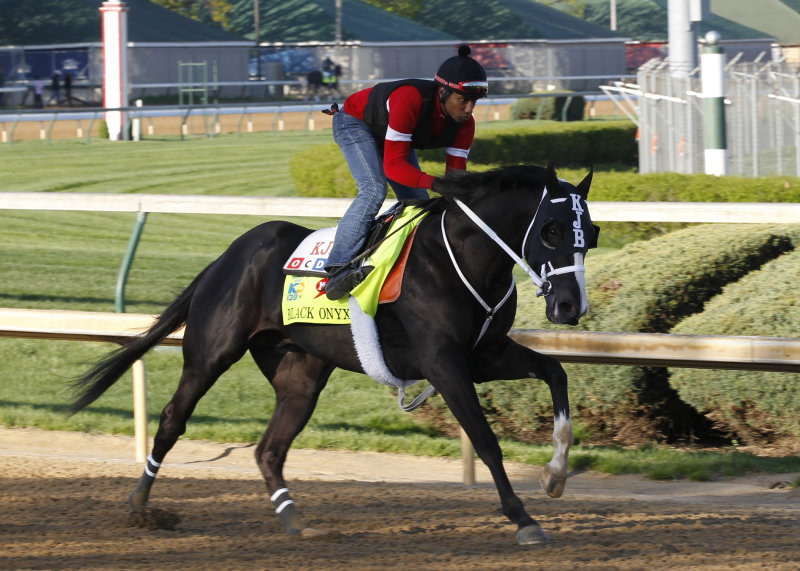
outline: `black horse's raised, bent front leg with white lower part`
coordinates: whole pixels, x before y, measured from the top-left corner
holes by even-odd
[[[471,363],[478,382],[537,378],[550,387],[553,399],[553,458],[545,464],[539,482],[547,495],[561,497],[567,483],[572,421],[569,414],[567,374],[561,364],[547,355],[524,347],[509,337],[473,356]]]

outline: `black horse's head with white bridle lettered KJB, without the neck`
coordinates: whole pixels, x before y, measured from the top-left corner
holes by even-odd
[[[547,318],[577,325],[589,309],[583,261],[587,250],[597,247],[599,232],[586,204],[592,171],[573,186],[559,179],[550,165],[546,180],[522,243],[522,256],[541,281],[538,295],[547,303]]]

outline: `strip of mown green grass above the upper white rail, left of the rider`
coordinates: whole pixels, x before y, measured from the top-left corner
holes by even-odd
[[[287,196],[289,157],[332,140],[330,130],[213,139],[92,139],[0,145],[0,191]]]

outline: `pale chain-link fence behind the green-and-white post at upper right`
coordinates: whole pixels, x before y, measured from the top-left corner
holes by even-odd
[[[605,88],[637,122],[639,171],[705,172],[700,69],[675,74],[651,60],[637,84]],[[726,67],[728,174],[800,176],[800,69],[785,61]]]

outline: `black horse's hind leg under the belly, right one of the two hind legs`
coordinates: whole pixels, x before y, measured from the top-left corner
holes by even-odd
[[[275,412],[256,448],[256,462],[286,533],[299,533],[306,526],[289,495],[283,465],[289,447],[311,418],[334,367],[294,346],[268,353],[252,349],[251,353],[275,388]]]

